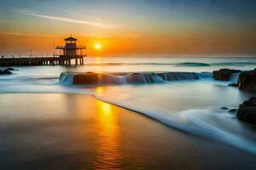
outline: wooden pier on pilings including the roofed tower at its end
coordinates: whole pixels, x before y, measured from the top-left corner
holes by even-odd
[[[53,56],[31,56],[30,57],[15,57],[2,56],[0,58],[0,66],[22,66],[22,65],[72,65],[72,59],[75,65],[84,65],[84,58],[87,56],[83,54],[85,46],[77,46],[77,39],[74,37],[67,37],[65,46],[57,46],[55,49],[61,50],[61,54],[54,54]]]

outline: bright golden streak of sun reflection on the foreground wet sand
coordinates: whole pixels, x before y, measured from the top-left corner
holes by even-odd
[[[96,151],[96,169],[112,169],[121,167],[121,152],[119,150],[119,122],[113,105],[98,101],[96,119],[98,127],[96,136],[98,149]]]

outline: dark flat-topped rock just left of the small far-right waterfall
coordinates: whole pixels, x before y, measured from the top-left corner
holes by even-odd
[[[213,78],[220,81],[229,81],[233,73],[241,72],[240,70],[220,69],[213,71]]]

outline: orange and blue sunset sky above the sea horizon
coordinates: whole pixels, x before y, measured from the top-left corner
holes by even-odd
[[[256,54],[254,0],[4,0],[0,8],[1,55],[58,53],[70,35],[91,56]]]

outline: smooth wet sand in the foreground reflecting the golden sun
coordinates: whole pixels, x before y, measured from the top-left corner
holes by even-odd
[[[253,169],[256,156],[78,94],[0,94],[0,169]]]

